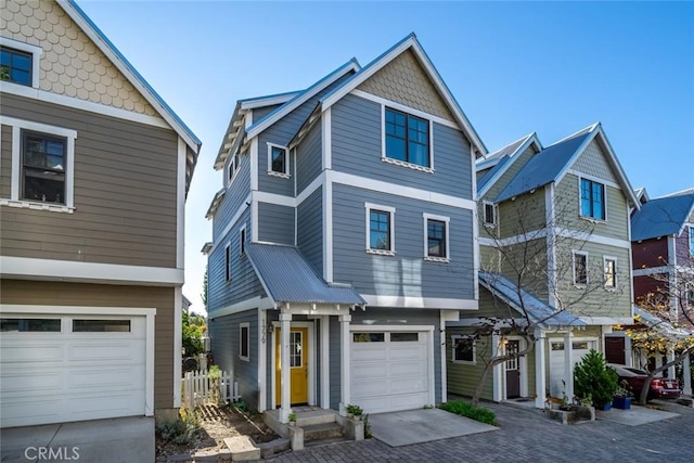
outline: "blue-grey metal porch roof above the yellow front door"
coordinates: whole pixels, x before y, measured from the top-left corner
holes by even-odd
[[[248,243],[246,254],[274,304],[367,304],[352,287],[327,284],[294,246]]]

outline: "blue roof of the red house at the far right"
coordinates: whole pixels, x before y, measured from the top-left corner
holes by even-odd
[[[631,241],[679,235],[694,211],[694,193],[647,201],[631,217]]]

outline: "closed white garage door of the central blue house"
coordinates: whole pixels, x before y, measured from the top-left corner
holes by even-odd
[[[427,332],[351,332],[351,403],[367,413],[432,404]]]

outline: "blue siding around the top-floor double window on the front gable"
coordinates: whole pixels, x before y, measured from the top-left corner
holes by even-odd
[[[470,143],[463,132],[435,123],[434,173],[384,163],[381,105],[347,95],[332,110],[333,169],[451,196],[473,198]]]

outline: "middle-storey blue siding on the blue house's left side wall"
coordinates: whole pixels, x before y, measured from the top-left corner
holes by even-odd
[[[240,230],[246,224],[246,240],[250,240],[249,211],[246,210],[231,231],[219,241],[217,247],[207,259],[207,291],[208,311],[214,316],[215,310],[240,303],[255,296],[265,295],[248,258],[240,256]],[[231,282],[226,281],[226,247],[231,243]]]

